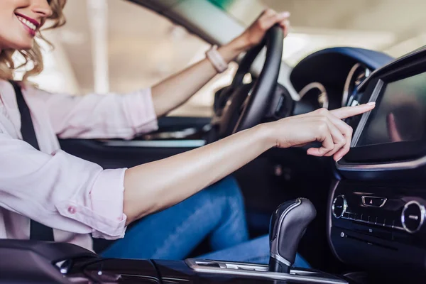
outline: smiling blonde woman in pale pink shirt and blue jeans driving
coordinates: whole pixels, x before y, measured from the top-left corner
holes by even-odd
[[[239,187],[226,176],[269,148],[312,141],[322,146],[307,154],[338,160],[349,151],[351,139],[351,129],[341,119],[373,106],[322,109],[261,124],[153,163],[103,170],[61,151],[57,136],[132,138],[153,131],[159,116],[187,101],[217,69],[204,59],[150,89],[123,95],[73,97],[36,89],[25,82],[43,70],[34,38],[41,37],[45,22],[53,27],[65,23],[64,6],[65,0],[0,1],[0,238],[29,239],[32,219],[53,228],[55,241],[87,249],[92,249],[89,234],[119,239],[102,253],[109,257],[182,259],[209,236],[218,251],[210,258],[266,262],[268,240],[248,241]],[[219,48],[220,57],[230,62],[260,43],[275,24],[287,33],[288,16],[265,11]],[[15,70],[13,53],[21,53],[33,66],[21,86],[40,151],[22,139],[16,92],[8,82]],[[295,265],[305,263],[299,258]]]

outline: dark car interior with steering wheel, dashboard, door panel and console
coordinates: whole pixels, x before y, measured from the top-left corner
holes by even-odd
[[[210,44],[244,31],[214,1],[131,2]],[[326,48],[290,67],[282,61],[284,41],[282,30],[271,28],[261,45],[236,60],[231,84],[214,94],[212,117],[166,116],[158,131],[133,140],[60,140],[67,153],[103,168],[130,168],[266,121],[376,102],[373,111],[345,120],[354,136],[338,162],[306,155],[310,146],[272,148],[234,173],[251,237],[270,236],[275,257],[269,265],[195,258],[208,252],[207,242],[185,261],[165,261],[0,240],[0,283],[424,283],[426,47],[400,58]],[[95,252],[109,244],[94,239]],[[296,251],[312,269],[291,267]]]

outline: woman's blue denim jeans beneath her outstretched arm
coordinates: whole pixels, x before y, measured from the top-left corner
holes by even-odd
[[[268,236],[249,241],[244,200],[234,178],[225,178],[173,207],[144,217],[101,255],[182,260],[206,237],[214,252],[200,258],[268,263]],[[309,267],[300,256],[295,266]]]

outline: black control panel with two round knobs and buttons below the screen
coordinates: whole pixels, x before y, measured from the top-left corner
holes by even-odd
[[[426,271],[426,190],[344,180],[332,191],[329,239],[335,255],[373,273]]]

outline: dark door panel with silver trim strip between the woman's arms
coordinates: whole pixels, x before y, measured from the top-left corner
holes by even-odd
[[[164,117],[158,131],[133,140],[60,139],[62,150],[102,168],[130,168],[204,146],[209,118]]]

